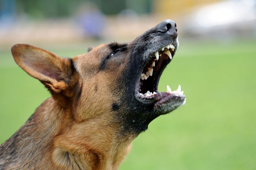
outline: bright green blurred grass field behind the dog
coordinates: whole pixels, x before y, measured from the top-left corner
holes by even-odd
[[[49,49],[60,56],[87,47]],[[50,95],[0,51],[0,143]],[[184,42],[159,91],[181,84],[186,104],[150,123],[120,170],[256,169],[256,41]]]

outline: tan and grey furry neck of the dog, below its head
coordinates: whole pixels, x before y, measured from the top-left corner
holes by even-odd
[[[71,111],[53,97],[44,101],[15,135],[1,145],[1,152],[9,152],[6,159],[16,155],[17,160],[12,157],[10,168],[117,169],[134,137],[120,137],[110,120],[76,122]],[[30,155],[33,159],[28,167],[20,158]]]

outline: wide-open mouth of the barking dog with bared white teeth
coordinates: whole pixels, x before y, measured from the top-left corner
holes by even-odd
[[[156,108],[160,105],[180,106],[185,103],[185,96],[180,85],[174,91],[167,85],[166,92],[158,92],[160,76],[171,62],[176,48],[174,44],[169,44],[152,54],[143,68],[138,88],[135,91],[135,97],[139,102],[143,104],[155,103]]]

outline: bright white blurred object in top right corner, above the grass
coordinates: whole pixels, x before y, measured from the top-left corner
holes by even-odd
[[[185,33],[255,34],[256,0],[227,0],[197,8],[185,19]]]

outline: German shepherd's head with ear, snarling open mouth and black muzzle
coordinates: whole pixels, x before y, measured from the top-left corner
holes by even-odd
[[[159,115],[185,102],[180,89],[158,91],[177,48],[176,24],[165,20],[127,44],[103,44],[74,58],[61,58],[25,44],[12,47],[16,63],[40,80],[76,122],[96,117],[123,134],[138,135]]]

